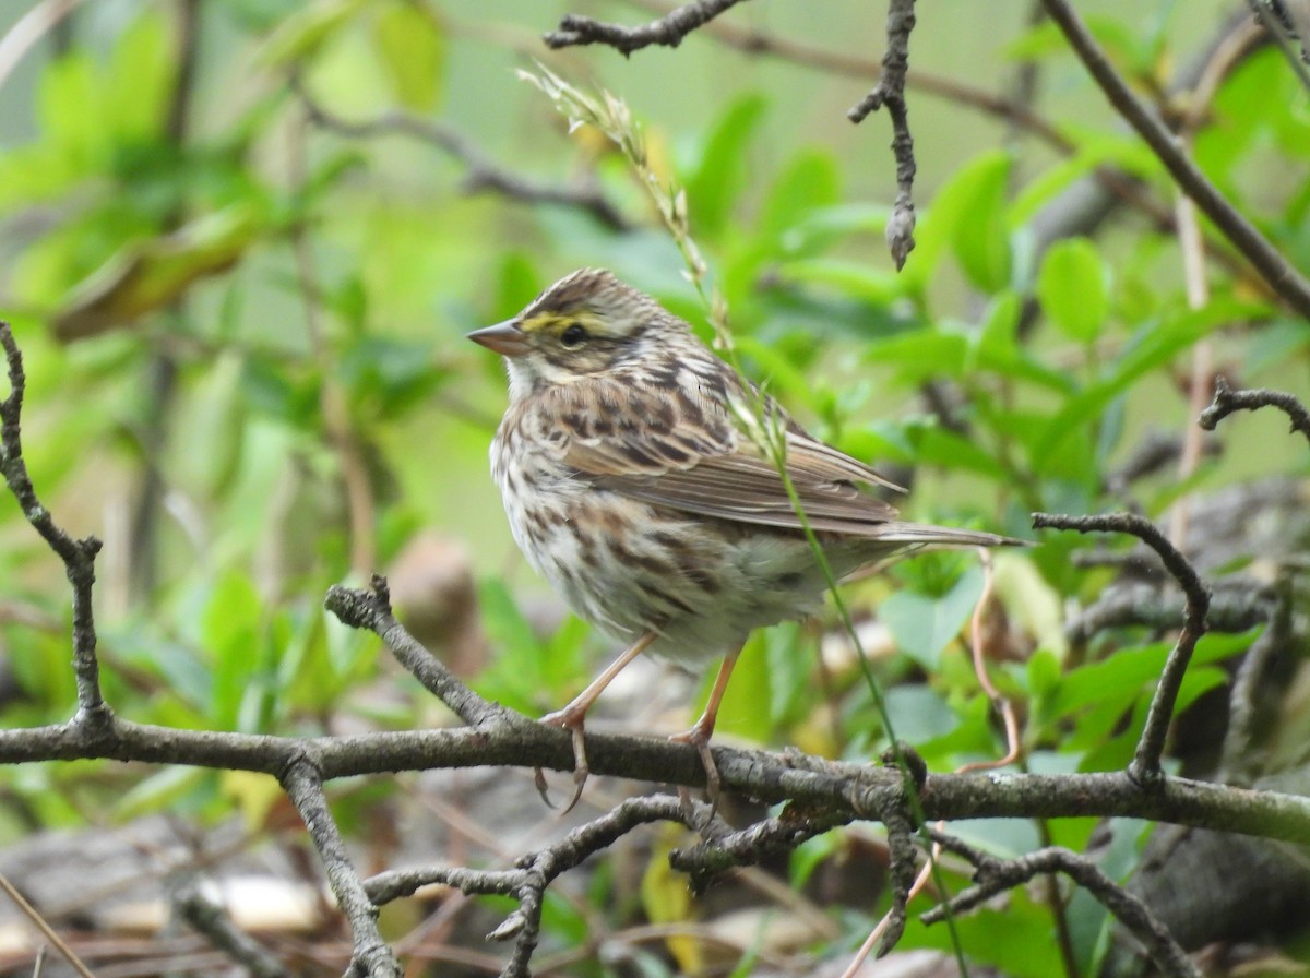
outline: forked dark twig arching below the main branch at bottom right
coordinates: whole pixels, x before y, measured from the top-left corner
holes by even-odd
[[[1034,876],[1060,872],[1091,893],[1096,901],[1124,924],[1146,948],[1146,953],[1159,969],[1175,978],[1201,978],[1200,969],[1187,957],[1169,930],[1137,897],[1119,886],[1090,859],[1065,848],[1041,848],[1019,859],[996,859],[963,839],[945,831],[933,830],[933,838],[977,868],[975,885],[950,899],[946,905],[924,914],[924,923],[937,923],[947,913],[964,913],[990,899],[998,893],[1022,886]]]

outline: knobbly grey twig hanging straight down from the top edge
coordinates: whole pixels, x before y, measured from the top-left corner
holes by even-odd
[[[852,122],[859,123],[875,109],[886,107],[892,119],[896,200],[892,202],[892,212],[887,217],[886,236],[897,271],[905,267],[905,258],[914,249],[914,137],[909,131],[909,109],[905,105],[905,71],[909,68],[912,30],[914,30],[914,0],[888,0],[883,75],[872,90],[846,113]]]

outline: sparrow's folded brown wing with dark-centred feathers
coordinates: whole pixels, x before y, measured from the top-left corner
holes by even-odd
[[[592,420],[572,426],[562,448],[591,484],[698,516],[800,529],[777,466],[739,429],[720,391],[684,385],[668,397],[637,398],[625,385],[590,393],[591,411],[572,414]],[[895,521],[896,509],[866,491],[892,483],[807,435],[772,401],[762,407],[785,432],[787,477],[814,529],[879,535],[874,528]],[[597,416],[605,419],[599,431]]]

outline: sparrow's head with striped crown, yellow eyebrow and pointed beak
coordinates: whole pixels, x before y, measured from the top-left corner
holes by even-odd
[[[685,323],[654,299],[603,268],[582,268],[469,339],[506,359],[517,398],[641,361],[677,334]]]

